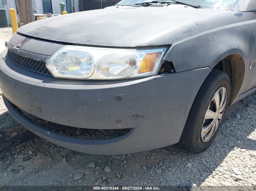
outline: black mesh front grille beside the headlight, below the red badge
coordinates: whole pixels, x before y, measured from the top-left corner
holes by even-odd
[[[45,66],[45,62],[20,56],[18,54],[13,53],[10,50],[8,50],[8,56],[13,63],[15,63],[16,65],[24,69],[30,70],[32,72],[36,72],[38,74],[52,77],[52,74],[49,72],[49,70]]]

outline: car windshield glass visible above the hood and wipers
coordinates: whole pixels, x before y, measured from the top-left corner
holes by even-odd
[[[137,3],[151,2],[153,0],[121,0],[117,5],[135,5]],[[179,1],[179,0],[178,0]],[[231,9],[239,11],[245,0],[180,0],[184,3],[193,3],[201,5],[203,8],[210,9]],[[171,0],[161,0],[161,2],[174,2]]]

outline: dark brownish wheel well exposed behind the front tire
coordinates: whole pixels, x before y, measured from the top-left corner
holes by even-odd
[[[231,54],[214,66],[214,69],[226,72],[231,82],[230,102],[236,98],[244,79],[244,60],[239,54]]]

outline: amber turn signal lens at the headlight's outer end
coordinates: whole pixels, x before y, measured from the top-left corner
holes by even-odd
[[[145,54],[138,74],[154,71],[155,64],[159,62],[162,52]]]

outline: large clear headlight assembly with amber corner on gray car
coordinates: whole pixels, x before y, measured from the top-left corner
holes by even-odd
[[[64,46],[46,62],[56,78],[112,80],[156,75],[167,48]]]

